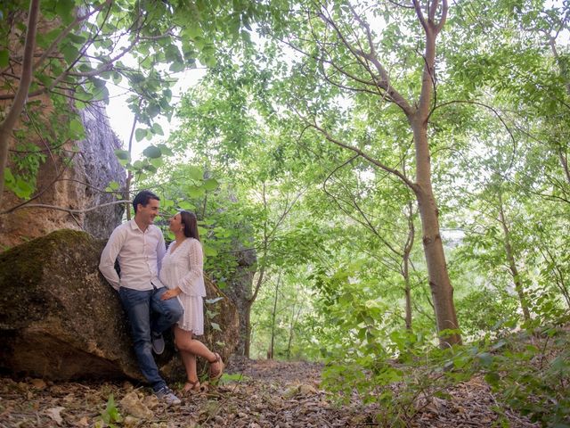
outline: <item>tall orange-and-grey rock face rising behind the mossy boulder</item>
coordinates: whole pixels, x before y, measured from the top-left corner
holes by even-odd
[[[28,16],[25,12],[17,12],[18,9],[10,12],[9,18],[6,15],[12,25],[3,34],[2,49],[7,47],[11,62],[0,73],[3,95],[15,95],[19,87],[21,62],[15,60],[24,53],[21,29],[26,26]],[[38,40],[52,34],[60,25],[57,13],[44,14],[38,22]],[[44,53],[42,44],[37,44],[35,53],[37,57]],[[50,64],[55,63],[44,64],[48,74]],[[59,74],[55,69],[52,72]],[[36,85],[37,79],[34,82]],[[126,171],[115,156],[121,142],[110,128],[105,106],[94,102],[85,110],[77,111],[72,91],[60,89],[55,91],[57,95],[30,97],[11,133],[6,167],[25,177],[30,185],[35,184],[36,189],[33,199],[25,204],[26,201],[4,188],[0,211],[8,213],[0,215],[0,248],[12,247],[62,228],[84,230],[106,238],[121,222],[124,208],[109,204],[117,198],[105,189],[110,182],[116,182],[118,191],[125,193]],[[12,102],[10,96],[0,100],[3,118]],[[85,128],[85,138],[80,141],[70,139],[73,136],[61,127],[74,119],[80,119]],[[42,208],[29,208],[32,204]],[[48,208],[50,206],[53,208]]]

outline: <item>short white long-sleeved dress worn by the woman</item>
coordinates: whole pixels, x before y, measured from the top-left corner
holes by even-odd
[[[202,245],[197,239],[186,238],[172,251],[175,243],[168,246],[162,259],[160,281],[169,289],[180,287],[178,300],[184,309],[178,326],[194,335],[204,334],[204,256]]]

